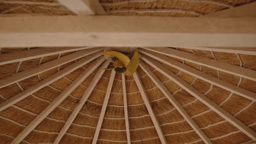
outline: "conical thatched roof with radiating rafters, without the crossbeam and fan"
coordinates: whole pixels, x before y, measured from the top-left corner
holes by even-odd
[[[256,6],[248,0],[90,2],[101,6],[91,8],[94,14],[123,16],[253,17],[255,11],[244,10]],[[65,0],[0,0],[1,144],[256,142],[254,47],[26,47],[30,39],[26,44],[1,40],[9,37],[10,29],[1,28],[5,17],[84,14],[80,6]],[[106,69],[113,65],[103,55],[108,50],[137,50],[136,73]]]

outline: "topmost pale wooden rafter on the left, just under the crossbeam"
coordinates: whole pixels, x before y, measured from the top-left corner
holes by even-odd
[[[65,52],[86,50],[86,49],[91,49],[91,48],[94,48],[94,47],[92,47],[92,46],[91,47],[80,47],[80,48],[45,47],[45,48],[39,48],[39,49],[32,49],[29,51],[9,52],[9,53],[4,53],[3,55],[1,55],[0,65],[21,62],[21,61],[27,61],[27,60],[39,58],[39,57],[52,56],[52,55],[57,55],[60,53],[65,53]]]

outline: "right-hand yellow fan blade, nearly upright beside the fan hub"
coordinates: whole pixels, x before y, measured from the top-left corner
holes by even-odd
[[[139,64],[139,54],[138,54],[138,51],[136,50],[133,53],[130,63],[127,65],[127,71],[124,74],[127,76],[132,76],[132,74],[135,73],[136,69],[138,68],[138,64]]]

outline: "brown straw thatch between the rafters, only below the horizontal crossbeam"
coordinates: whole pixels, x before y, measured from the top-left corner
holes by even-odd
[[[20,50],[30,51],[27,49],[3,48],[1,51],[3,54],[1,55],[4,56],[7,52],[13,53],[14,51]],[[237,65],[237,67],[255,70],[256,56],[191,49],[177,49],[177,51],[193,53],[193,55],[197,57],[216,59],[216,61]],[[8,77],[17,75],[21,73],[21,71],[30,71],[31,69],[38,67],[38,65],[51,63],[55,59],[67,57],[71,54],[72,52],[61,53],[59,55],[0,65],[1,79],[8,79]],[[11,97],[15,97],[15,95],[22,91],[27,91],[26,89],[37,85],[47,79],[47,77],[58,73],[58,71],[64,70],[68,65],[78,63],[81,61],[80,59],[81,58],[62,64],[57,68],[50,69],[44,73],[33,75],[25,80],[0,88],[1,103]],[[186,62],[182,59],[173,59],[184,65],[195,68],[197,71],[203,71],[208,75],[212,75],[218,79],[247,89],[248,91],[256,92],[255,81],[205,66],[202,67],[201,65]],[[43,87],[39,91],[20,100],[18,103],[1,111],[1,142],[10,143],[13,141],[14,138],[18,136],[21,131],[24,130],[47,106],[49,106],[50,103],[63,93],[63,91],[65,91],[65,89],[71,85],[71,83],[74,82],[91,63],[92,62],[85,64],[83,67],[74,70],[72,73],[67,74],[61,79],[56,80],[50,85]],[[224,110],[228,111],[231,115],[235,116],[242,123],[246,124],[247,127],[256,131],[256,104],[254,101],[226,91],[223,88],[212,85],[212,83],[203,81],[198,77],[189,75],[170,65],[162,62],[159,63],[181,77],[181,79],[214,101],[214,103],[221,106]],[[191,118],[193,118],[195,123],[200,127],[203,133],[207,135],[212,143],[253,143],[251,138],[234,127],[230,122],[219,116],[216,112],[193,97],[193,95],[178,86],[175,82],[168,79],[165,75],[161,74],[158,70],[152,68],[149,64],[147,65],[168,91],[174,95],[179,104],[182,105],[184,110],[187,111]],[[75,90],[46,118],[44,118],[21,143],[53,143],[99,70],[101,70],[100,67],[80,83],[80,85],[75,88]],[[167,143],[204,143],[200,136],[197,135],[196,131],[191,128],[189,123],[182,117],[172,103],[170,103],[150,77],[140,67],[137,71]],[[101,79],[93,89],[88,100],[86,100],[86,103],[75,117],[65,135],[63,135],[60,143],[92,142],[98,124],[97,122],[101,115],[103,101],[110,79],[110,72],[110,70],[106,70],[101,76]],[[149,115],[133,77],[126,77],[125,84],[131,142],[161,143],[159,135],[152,122],[152,118]],[[127,143],[124,111],[122,78],[121,74],[117,73],[114,78],[107,109],[104,113],[101,130],[98,135],[98,143]]]

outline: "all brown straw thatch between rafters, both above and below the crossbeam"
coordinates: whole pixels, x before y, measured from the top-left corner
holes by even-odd
[[[151,15],[151,16],[188,16],[199,17],[207,15],[215,11],[228,9],[252,2],[253,0],[100,0],[100,3],[108,15]],[[44,14],[44,15],[74,15],[72,11],[53,0],[19,0],[19,1],[0,1],[0,14]],[[72,47],[71,47],[72,48]],[[115,50],[124,47],[115,47]],[[5,48],[0,47],[0,57],[7,53],[30,52],[32,49],[44,49],[43,47],[22,47],[22,48]],[[133,49],[131,47],[127,48]],[[127,50],[125,49],[125,50]],[[236,67],[256,70],[256,56],[245,55],[241,53],[228,53],[218,51],[203,51],[186,49],[185,47],[168,47],[175,51],[190,53],[196,57],[204,57],[214,59],[216,62],[224,62]],[[86,51],[86,50],[85,50]],[[11,80],[12,77],[33,71],[44,64],[51,64],[59,58],[71,56],[73,52],[63,52],[55,55],[37,57],[26,61],[14,62],[0,65],[0,83],[1,81]],[[79,52],[79,51],[78,51]],[[9,101],[10,98],[16,98],[19,94],[31,91],[31,88],[41,85],[44,81],[52,79],[56,74],[71,68],[73,65],[83,61],[83,58],[72,59],[67,63],[62,63],[51,69],[41,71],[25,79],[15,81],[0,88],[0,104]],[[247,92],[256,93],[256,82],[245,77],[193,63],[182,58],[171,57],[174,61],[193,68],[197,73],[203,73],[212,76],[215,79],[231,83],[237,87],[246,89]],[[0,143],[11,143],[19,134],[22,133],[28,125],[35,121],[59,95],[65,93],[80,75],[89,67],[92,67],[97,60],[88,62],[83,66],[72,70],[49,85],[40,88],[37,91],[26,95],[18,102],[8,106],[0,111]],[[107,60],[106,60],[107,61]],[[141,60],[142,61],[142,60]],[[256,104],[255,100],[251,100],[228,91],[223,87],[216,86],[211,81],[205,81],[195,75],[191,75],[186,71],[172,67],[167,63],[162,63],[156,59],[155,62],[161,64],[170,70],[171,73],[177,75],[185,83],[195,91],[203,94],[213,103],[219,105],[226,112],[237,118],[248,128],[256,131]],[[169,79],[161,71],[156,70],[149,63],[145,62],[147,67],[157,79],[167,88],[178,101],[185,112],[193,119],[202,132],[211,140],[212,143],[253,143],[246,133],[235,127],[218,113],[204,104],[200,99],[195,98],[183,86]],[[84,94],[90,89],[90,85],[94,82],[95,75],[98,71],[102,71],[101,65],[97,67],[89,76],[71,93],[67,94],[59,105],[50,110],[48,116],[43,117],[42,122],[26,135],[21,141],[25,143],[54,143],[56,137],[61,133],[62,128],[72,112],[80,104]],[[235,71],[232,71],[235,72]],[[189,122],[181,115],[168,97],[161,91],[161,88],[147,75],[141,67],[138,67],[137,73],[141,80],[142,87],[148,99],[143,99],[143,94],[139,91],[136,79],[133,76],[125,76],[116,73],[113,84],[109,84],[112,79],[110,77],[111,70],[105,70],[95,87],[92,88],[82,109],[74,117],[67,131],[62,136],[59,143],[92,143],[96,130],[100,129],[97,135],[97,143],[127,143],[129,139],[131,143],[161,143],[161,136],[157,131],[157,127],[162,131],[162,135],[166,143],[205,143],[191,127]],[[126,88],[126,99],[124,97],[123,82]],[[108,101],[105,101],[108,86],[110,94]],[[18,96],[17,96],[18,95]],[[170,95],[169,95],[170,96]],[[127,104],[125,104],[127,100]],[[152,112],[147,107],[147,103],[151,106]],[[127,105],[127,107],[126,107]],[[106,107],[103,116],[101,115],[103,108]],[[127,109],[126,109],[127,108]],[[127,110],[127,117],[126,117]],[[155,117],[155,119],[154,119]],[[100,122],[102,119],[102,123]],[[158,121],[159,125],[155,125],[154,121]],[[126,129],[127,122],[129,129]],[[130,137],[127,135],[130,133]],[[128,136],[128,137],[127,137]]]

